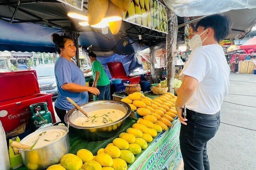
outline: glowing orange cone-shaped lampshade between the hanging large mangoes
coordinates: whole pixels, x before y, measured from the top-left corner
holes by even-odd
[[[110,1],[107,8],[107,13],[103,20],[105,22],[120,21],[122,20],[122,14],[122,10]]]

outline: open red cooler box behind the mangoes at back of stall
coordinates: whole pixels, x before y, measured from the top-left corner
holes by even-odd
[[[109,62],[107,67],[113,79],[123,79],[123,81],[130,81],[130,84],[139,84],[140,76],[127,76],[124,70],[123,63],[121,62]]]

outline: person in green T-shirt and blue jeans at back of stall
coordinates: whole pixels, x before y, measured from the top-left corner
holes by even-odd
[[[100,91],[98,100],[110,100],[110,82],[107,74],[105,73],[102,64],[97,60],[96,54],[89,52],[88,56],[92,63],[91,69],[84,71],[84,73],[92,72],[94,79],[92,87],[96,87]]]

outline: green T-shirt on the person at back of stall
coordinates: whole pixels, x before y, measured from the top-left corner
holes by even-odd
[[[92,76],[94,80],[95,80],[96,71],[100,71],[100,78],[97,82],[97,85],[104,86],[104,85],[110,84],[107,74],[105,73],[103,66],[98,60],[94,60],[94,62],[92,63],[91,71],[92,71]]]

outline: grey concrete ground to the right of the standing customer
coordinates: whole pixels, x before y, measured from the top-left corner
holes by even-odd
[[[229,81],[219,130],[207,144],[211,170],[255,170],[256,75],[231,72]]]

